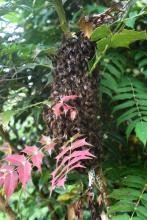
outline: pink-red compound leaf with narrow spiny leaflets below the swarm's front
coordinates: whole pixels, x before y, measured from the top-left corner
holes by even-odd
[[[61,148],[61,153],[56,156],[57,167],[51,173],[52,181],[50,193],[54,188],[64,186],[67,174],[69,172],[76,168],[85,168],[83,165],[81,165],[81,161],[95,157],[89,152],[89,149],[83,149],[83,146],[91,146],[91,144],[87,143],[85,139],[86,138],[82,138],[74,141],[73,143],[67,141],[67,143],[65,143]],[[75,150],[79,147],[82,147],[82,150]]]

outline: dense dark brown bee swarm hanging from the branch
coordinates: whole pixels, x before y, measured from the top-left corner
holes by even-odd
[[[94,24],[92,28],[112,22],[114,18],[110,15],[111,11],[109,9],[101,16],[91,17],[90,23]],[[100,109],[99,72],[95,70],[91,76],[88,74],[88,63],[95,55],[95,44],[90,41],[87,30],[85,32],[83,26],[81,29],[83,32],[74,36],[66,35],[61,43],[54,61],[50,96],[53,106],[44,112],[44,120],[48,127],[47,135],[60,145],[77,133],[84,134],[94,146],[92,153],[97,158],[92,161],[97,166],[101,155],[100,126],[97,120]],[[63,97],[68,96],[76,98],[63,100]]]

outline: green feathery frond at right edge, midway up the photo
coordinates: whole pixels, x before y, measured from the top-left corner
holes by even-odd
[[[135,78],[123,79],[112,101],[116,103],[113,113],[119,112],[120,115],[117,118],[117,125],[124,122],[128,124],[127,138],[135,129],[138,138],[146,144],[147,88],[145,84]]]

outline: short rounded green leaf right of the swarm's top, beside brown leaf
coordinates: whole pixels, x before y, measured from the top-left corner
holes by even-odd
[[[91,34],[91,40],[97,41],[111,34],[110,27],[106,24],[97,27]]]

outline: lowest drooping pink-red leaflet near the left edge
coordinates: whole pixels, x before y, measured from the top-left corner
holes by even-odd
[[[18,174],[16,171],[9,171],[4,179],[4,190],[6,196],[9,198],[18,184]]]

